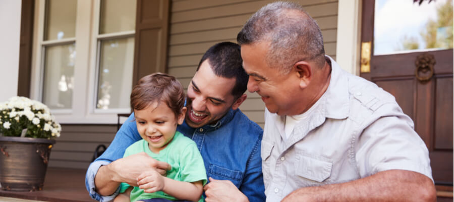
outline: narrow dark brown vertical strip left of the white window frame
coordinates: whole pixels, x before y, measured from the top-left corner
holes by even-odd
[[[17,95],[30,97],[34,0],[22,0]]]

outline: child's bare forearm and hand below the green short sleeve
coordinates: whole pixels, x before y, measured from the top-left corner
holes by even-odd
[[[203,182],[182,182],[160,175],[154,170],[142,173],[137,178],[140,189],[153,193],[163,191],[178,199],[198,201],[203,191]]]

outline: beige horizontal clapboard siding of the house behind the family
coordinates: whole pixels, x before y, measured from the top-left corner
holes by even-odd
[[[188,86],[200,58],[214,43],[236,42],[237,33],[259,8],[272,1],[184,0],[172,2],[167,72]],[[336,0],[300,0],[318,22],[327,55],[335,58],[337,30]],[[261,127],[265,105],[257,93],[249,93],[240,109]],[[116,125],[63,125],[62,136],[50,155],[50,167],[86,169],[99,144],[108,146]]]

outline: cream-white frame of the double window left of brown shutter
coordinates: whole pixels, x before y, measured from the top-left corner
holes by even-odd
[[[100,0],[77,1],[76,37],[43,41],[45,0],[35,4],[33,30],[33,54],[30,98],[42,100],[44,70],[44,46],[75,41],[76,61],[72,109],[51,110],[61,124],[117,124],[117,114],[130,113],[131,109],[96,109],[100,40],[134,36],[135,30],[115,34],[98,34]],[[131,84],[132,85],[132,84]],[[128,96],[129,95],[125,95]],[[123,122],[122,119],[121,122]]]

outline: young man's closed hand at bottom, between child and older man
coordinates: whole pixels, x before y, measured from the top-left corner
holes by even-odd
[[[209,178],[210,183],[203,187],[205,201],[249,201],[231,181]]]

